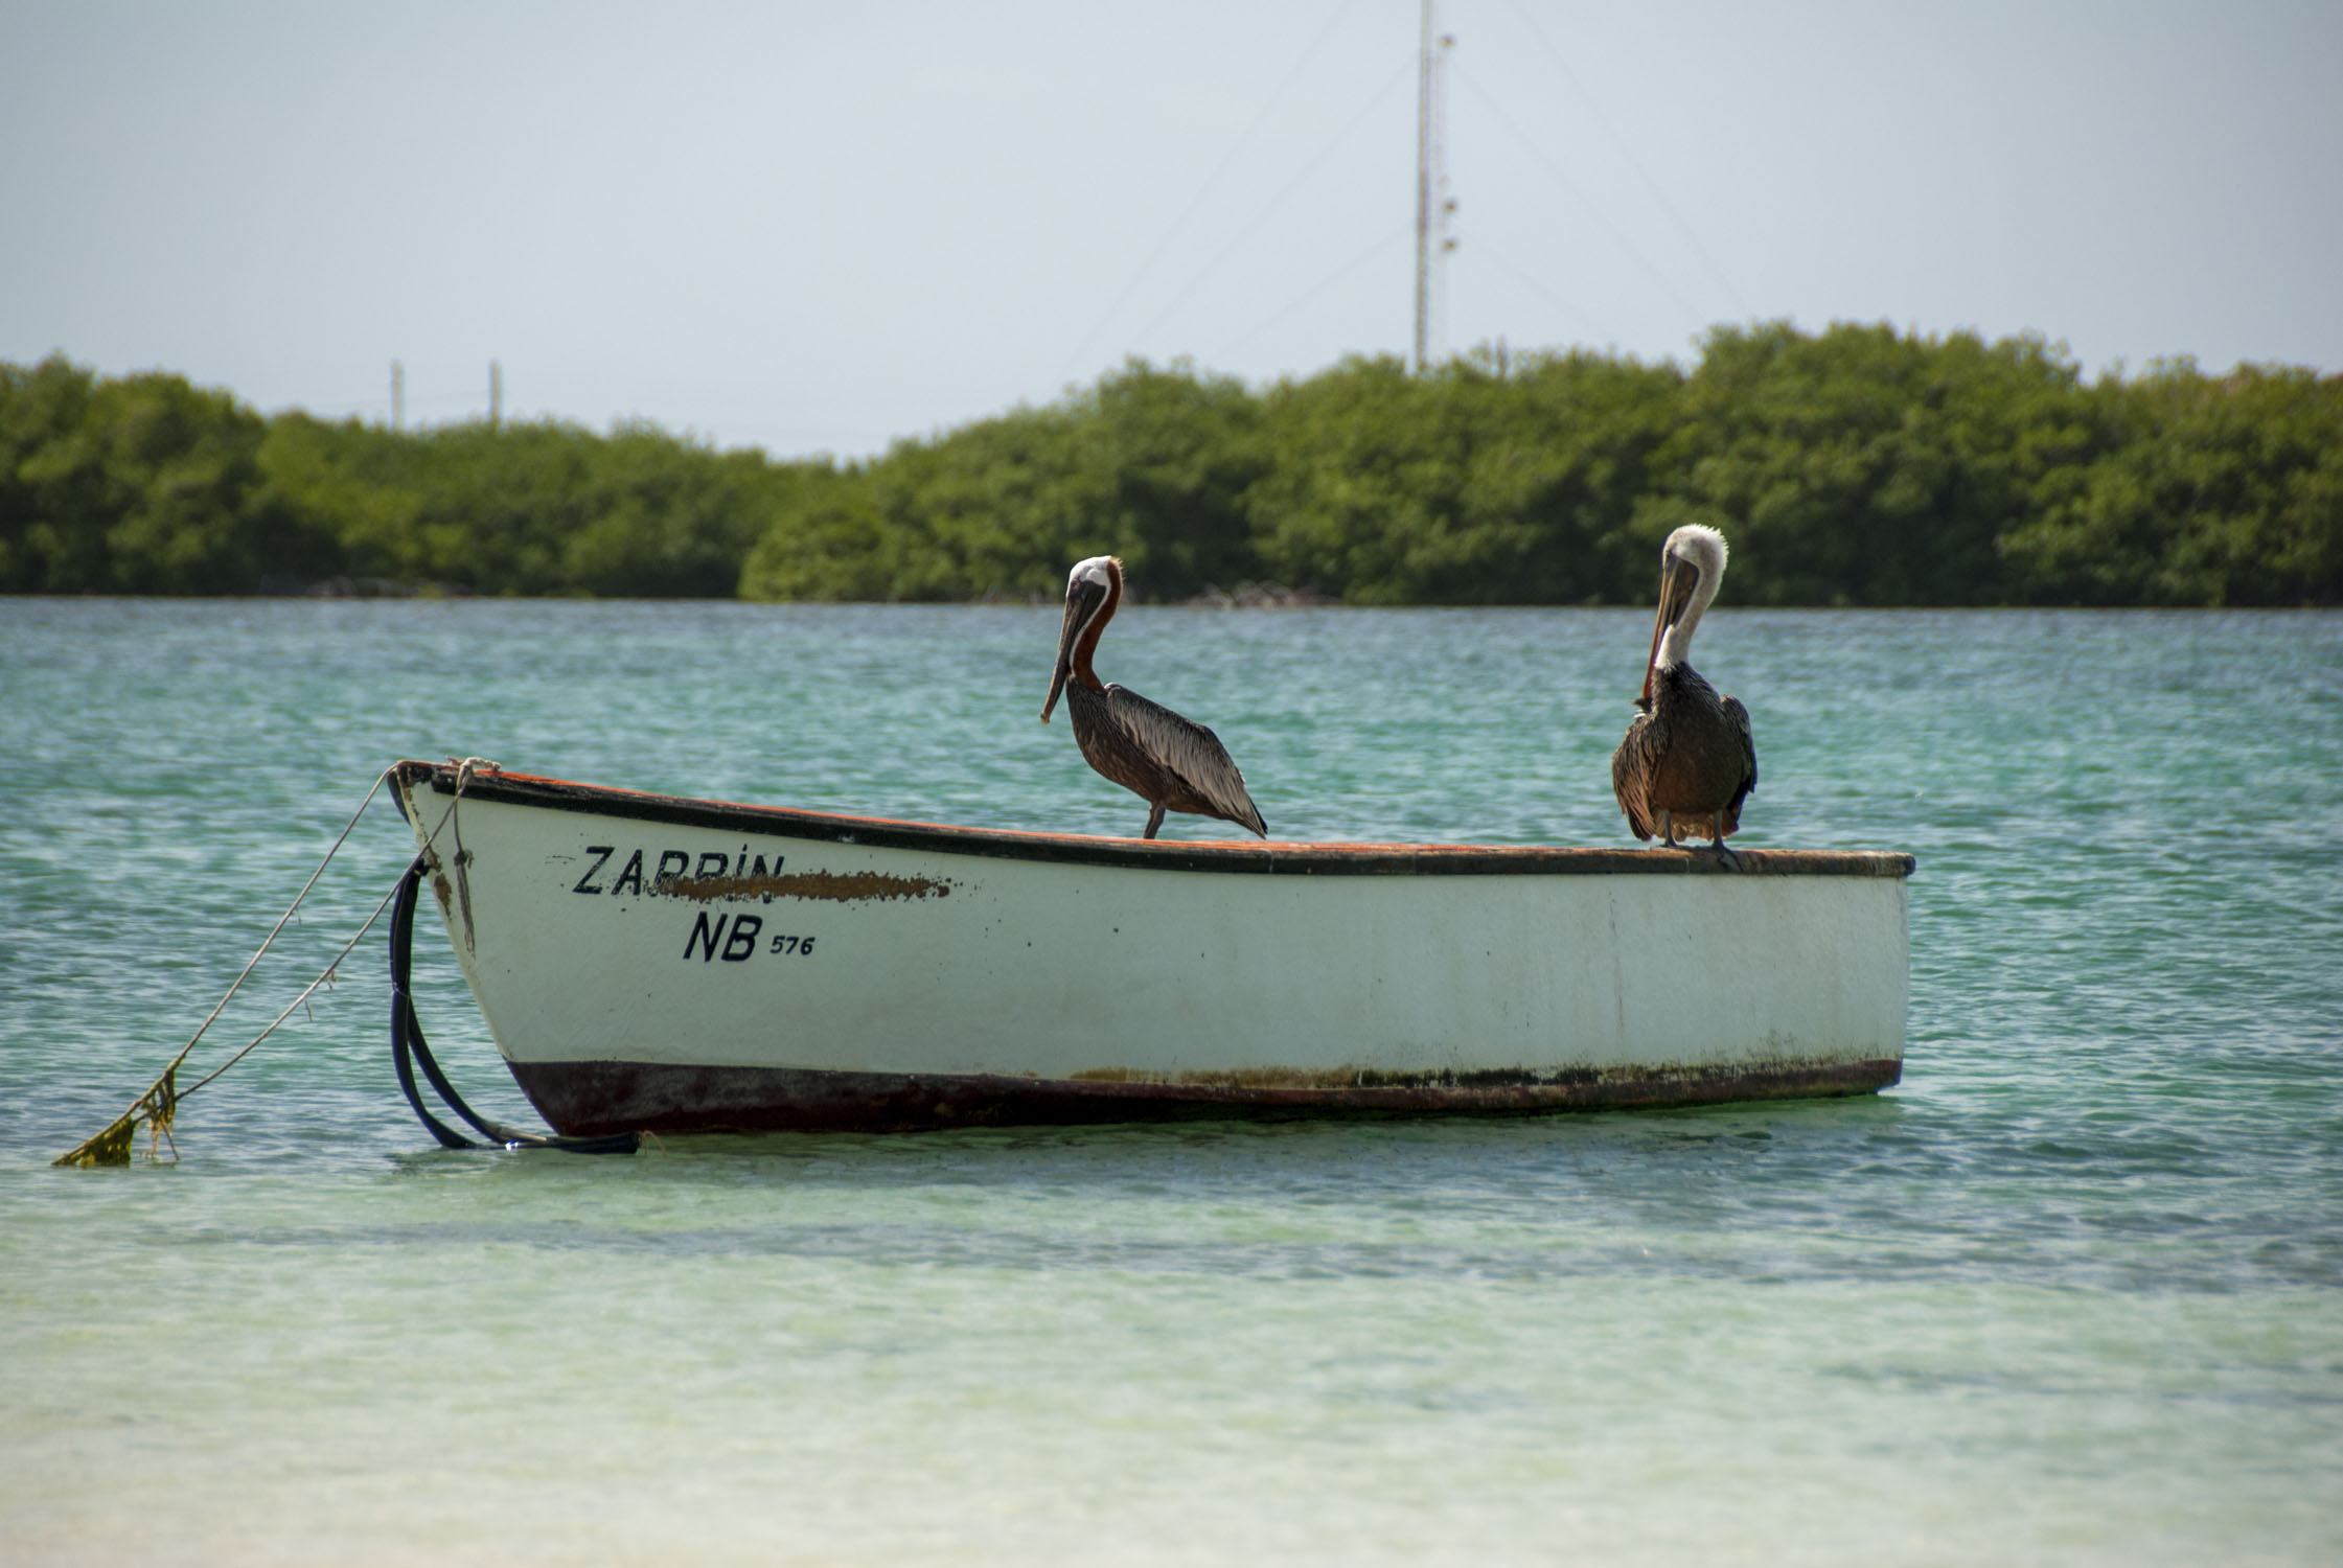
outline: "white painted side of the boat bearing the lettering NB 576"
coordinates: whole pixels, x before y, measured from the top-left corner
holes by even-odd
[[[750,813],[658,820],[644,797],[600,813],[579,785],[560,785],[565,809],[483,790],[450,813],[450,783],[410,769],[401,790],[515,1071],[1333,1083],[1813,1069],[1905,1048],[1900,874],[1087,865],[1010,853],[1017,834],[956,853],[759,832]],[[661,884],[663,855],[689,872]]]

